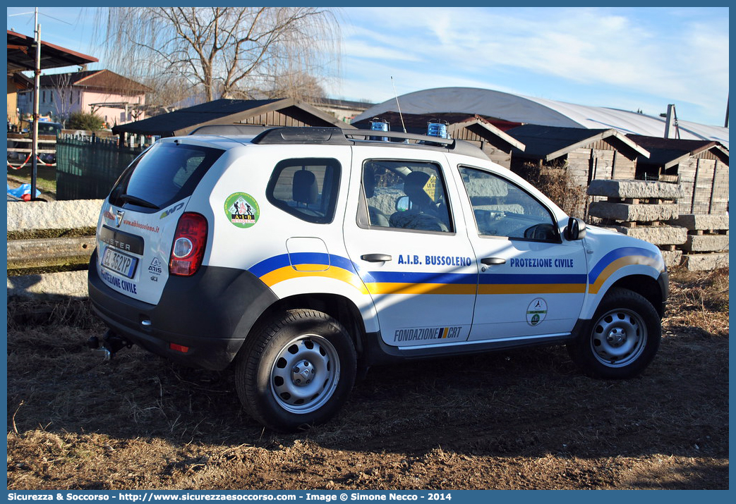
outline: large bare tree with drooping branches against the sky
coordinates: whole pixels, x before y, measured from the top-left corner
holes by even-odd
[[[119,73],[181,79],[208,101],[336,70],[339,27],[318,7],[109,7],[106,56]],[[293,90],[292,90],[293,91]]]

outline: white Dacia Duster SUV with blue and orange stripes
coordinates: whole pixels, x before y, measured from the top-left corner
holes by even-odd
[[[475,146],[223,129],[159,140],[105,201],[89,269],[105,351],[233,364],[280,431],[328,420],[372,364],[565,344],[628,378],[657,352],[659,250],[586,229]]]

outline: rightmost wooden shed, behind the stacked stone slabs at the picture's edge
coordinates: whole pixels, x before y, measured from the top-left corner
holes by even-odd
[[[710,140],[628,137],[651,155],[637,160],[637,178],[676,182],[681,214],[723,215],[729,203],[729,151]]]

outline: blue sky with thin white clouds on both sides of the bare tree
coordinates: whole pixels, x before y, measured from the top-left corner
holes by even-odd
[[[8,29],[32,35],[32,7]],[[41,37],[99,57],[91,9],[40,7]],[[481,87],[723,126],[726,7],[343,7],[330,98],[375,103],[432,87]],[[439,112],[439,111],[438,111]]]

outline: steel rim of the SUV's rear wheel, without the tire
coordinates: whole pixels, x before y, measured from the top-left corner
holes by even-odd
[[[339,381],[337,350],[322,336],[298,336],[281,348],[270,378],[281,408],[297,414],[316,411],[330,400]]]

